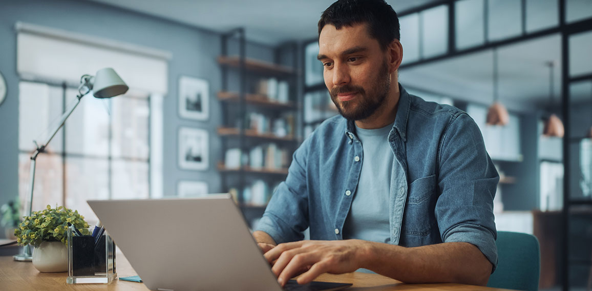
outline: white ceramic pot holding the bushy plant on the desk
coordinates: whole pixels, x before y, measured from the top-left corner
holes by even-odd
[[[68,250],[59,241],[44,241],[33,250],[33,266],[43,273],[68,270]]]

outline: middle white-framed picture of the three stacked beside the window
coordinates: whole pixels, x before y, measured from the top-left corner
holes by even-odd
[[[179,168],[182,170],[207,170],[210,155],[208,132],[204,129],[181,127],[179,129]]]

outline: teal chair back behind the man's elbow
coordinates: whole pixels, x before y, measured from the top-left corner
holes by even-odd
[[[540,249],[533,235],[497,232],[497,269],[487,287],[536,291],[539,289]]]

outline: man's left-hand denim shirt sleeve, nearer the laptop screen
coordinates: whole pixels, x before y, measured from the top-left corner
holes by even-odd
[[[306,161],[310,138],[292,155],[288,177],[276,188],[256,231],[269,234],[277,244],[300,241],[308,228]]]

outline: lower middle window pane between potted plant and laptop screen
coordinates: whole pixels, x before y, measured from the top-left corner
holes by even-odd
[[[108,167],[107,159],[66,157],[66,206],[89,223],[97,218],[86,200],[110,198]]]

